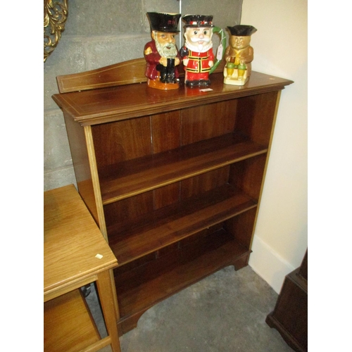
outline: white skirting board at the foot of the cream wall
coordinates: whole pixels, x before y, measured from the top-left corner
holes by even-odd
[[[284,277],[296,268],[273,251],[258,236],[253,237],[252,251],[249,265],[279,294]]]

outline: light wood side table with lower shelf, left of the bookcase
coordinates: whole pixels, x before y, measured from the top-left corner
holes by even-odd
[[[118,265],[73,184],[44,192],[44,351],[120,352]],[[80,287],[96,282],[108,336],[101,339]]]

